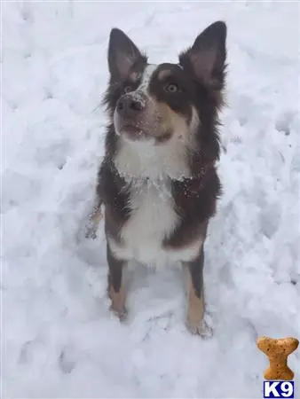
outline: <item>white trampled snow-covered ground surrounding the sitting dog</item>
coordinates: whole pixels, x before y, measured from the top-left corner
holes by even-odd
[[[111,27],[176,62],[215,20],[230,66],[203,341],[186,331],[178,268],[131,273],[121,325],[102,226],[99,242],[76,233],[103,153]],[[300,331],[299,4],[7,2],[2,22],[3,396],[262,397],[257,337]]]

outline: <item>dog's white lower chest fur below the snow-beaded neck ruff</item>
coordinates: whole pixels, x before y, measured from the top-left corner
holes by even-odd
[[[174,210],[170,184],[165,181],[137,184],[130,195],[130,208],[130,219],[121,231],[123,244],[108,239],[115,257],[157,266],[196,257],[200,239],[184,249],[162,247],[163,239],[170,237],[180,222]]]

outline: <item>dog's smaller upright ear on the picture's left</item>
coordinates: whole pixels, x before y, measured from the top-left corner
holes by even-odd
[[[114,27],[108,44],[108,67],[112,79],[125,79],[130,68],[138,61],[146,62],[146,57],[122,30]]]

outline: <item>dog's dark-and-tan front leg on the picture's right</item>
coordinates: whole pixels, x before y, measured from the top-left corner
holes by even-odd
[[[203,338],[209,338],[212,335],[212,329],[205,321],[205,300],[203,289],[203,264],[204,252],[203,246],[201,253],[192,262],[183,262],[187,275],[187,328],[193,334],[199,334]]]

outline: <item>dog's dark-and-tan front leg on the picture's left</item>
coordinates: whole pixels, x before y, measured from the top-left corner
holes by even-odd
[[[111,310],[115,315],[123,320],[127,315],[125,308],[125,288],[123,282],[123,269],[126,261],[116,259],[107,243],[107,263],[108,263],[108,295],[112,301]]]

